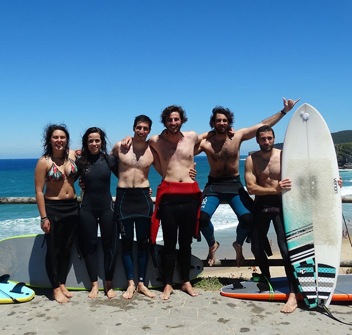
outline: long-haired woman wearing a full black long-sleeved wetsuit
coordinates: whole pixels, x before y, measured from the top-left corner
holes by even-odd
[[[79,212],[79,238],[82,238],[82,251],[92,282],[89,298],[97,298],[98,286],[98,224],[104,253],[105,285],[108,298],[116,297],[112,288],[115,258],[111,256],[111,241],[114,220],[114,203],[110,192],[111,172],[116,176],[117,160],[107,154],[106,135],[100,128],[87,129],[82,137],[81,157],[77,159],[80,184],[84,184],[84,195]],[[115,246],[116,247],[116,246]]]

